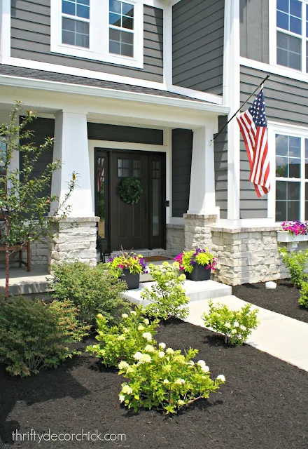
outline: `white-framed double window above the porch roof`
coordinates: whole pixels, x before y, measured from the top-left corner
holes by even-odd
[[[52,53],[144,66],[143,0],[52,0]]]

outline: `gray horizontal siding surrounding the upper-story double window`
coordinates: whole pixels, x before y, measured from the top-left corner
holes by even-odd
[[[11,55],[80,69],[163,81],[162,9],[144,6],[144,69],[50,53],[50,0],[12,0]]]

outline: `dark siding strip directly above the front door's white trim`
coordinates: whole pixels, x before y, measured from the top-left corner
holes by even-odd
[[[111,142],[163,145],[164,132],[160,129],[87,123],[87,138],[90,140],[109,140]]]

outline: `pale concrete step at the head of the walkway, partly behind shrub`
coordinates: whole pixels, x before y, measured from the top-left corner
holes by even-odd
[[[141,291],[145,287],[151,288],[153,284],[155,282],[140,283],[139,288],[136,290],[127,290],[122,295],[128,301],[134,302],[134,304],[143,304],[146,306],[148,305],[148,301],[141,299]],[[232,288],[230,286],[225,286],[225,284],[216,281],[185,281],[184,288],[186,289],[186,295],[190,298],[190,302],[232,295]]]

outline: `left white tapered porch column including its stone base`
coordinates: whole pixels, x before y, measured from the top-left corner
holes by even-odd
[[[69,216],[55,224],[49,262],[74,259],[95,265],[99,218],[94,217],[92,206],[86,114],[62,111],[56,116],[54,159],[62,162],[62,168],[53,173],[51,187],[59,201],[68,192],[71,173],[75,172],[78,177],[76,189],[67,201],[71,206]]]

